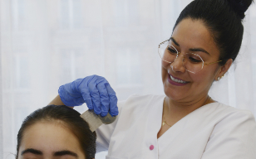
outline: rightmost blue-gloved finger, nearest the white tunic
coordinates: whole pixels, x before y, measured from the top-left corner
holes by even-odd
[[[111,88],[109,83],[106,83],[105,86],[110,99],[110,113],[112,116],[116,116],[118,115],[116,92]]]

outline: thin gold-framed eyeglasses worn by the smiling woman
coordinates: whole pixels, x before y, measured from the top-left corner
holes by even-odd
[[[158,53],[162,60],[167,63],[173,63],[179,56],[180,52],[177,51],[175,46],[170,44],[170,40],[163,41],[158,46]],[[212,62],[209,64],[204,63],[204,60],[197,54],[185,53],[182,59],[182,64],[185,70],[195,74],[204,68],[204,65],[211,65],[220,62]]]

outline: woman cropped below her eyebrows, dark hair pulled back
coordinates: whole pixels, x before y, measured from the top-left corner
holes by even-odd
[[[17,134],[16,159],[94,158],[96,134],[80,113],[66,106],[49,105],[25,118]]]

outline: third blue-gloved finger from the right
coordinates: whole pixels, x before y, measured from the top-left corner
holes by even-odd
[[[98,115],[101,113],[101,98],[100,98],[100,93],[96,88],[95,80],[91,80],[91,82],[88,84],[88,89],[91,95],[93,110]]]

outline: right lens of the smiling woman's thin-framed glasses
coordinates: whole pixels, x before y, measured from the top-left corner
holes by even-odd
[[[186,70],[195,74],[203,69],[204,60],[197,54],[186,53],[183,60],[183,65]]]

